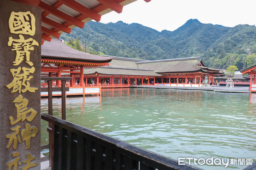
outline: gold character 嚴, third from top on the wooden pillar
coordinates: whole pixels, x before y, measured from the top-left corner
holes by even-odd
[[[10,69],[12,73],[12,77],[14,78],[12,82],[9,85],[6,85],[7,88],[12,88],[11,93],[19,92],[19,93],[25,93],[26,91],[29,91],[31,93],[35,93],[38,88],[32,88],[30,87],[29,80],[33,78],[33,76],[29,76],[29,74],[33,74],[35,72],[35,67],[32,68],[22,68],[23,73],[20,74],[21,68],[13,68]],[[24,86],[23,89],[21,89]]]

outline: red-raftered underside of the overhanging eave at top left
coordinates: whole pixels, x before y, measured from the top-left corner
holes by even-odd
[[[42,36],[44,41],[60,34],[70,34],[76,26],[83,28],[90,20],[100,21],[101,16],[111,11],[122,12],[122,8],[136,0],[13,0],[19,3],[38,6],[42,9]],[[144,0],[149,2],[151,0]]]

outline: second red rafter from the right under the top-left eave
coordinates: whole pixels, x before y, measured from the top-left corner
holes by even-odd
[[[73,8],[74,10],[80,12],[81,14],[90,17],[93,20],[100,21],[101,15],[94,12],[93,10],[81,5],[81,3],[76,2],[75,0],[58,0],[61,3],[64,3],[66,6]]]

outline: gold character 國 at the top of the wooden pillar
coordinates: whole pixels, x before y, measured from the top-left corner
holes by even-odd
[[[35,16],[30,12],[12,11],[9,18],[10,32],[13,34],[35,35]]]

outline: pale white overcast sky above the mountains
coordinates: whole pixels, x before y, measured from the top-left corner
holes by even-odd
[[[140,23],[157,31],[173,31],[189,19],[201,23],[233,27],[256,25],[256,0],[137,0],[123,7],[121,14],[112,11],[101,23]]]

